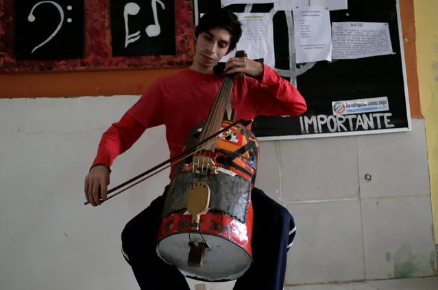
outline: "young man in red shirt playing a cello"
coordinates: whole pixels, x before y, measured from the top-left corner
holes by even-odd
[[[121,120],[102,135],[97,157],[85,179],[85,196],[91,205],[101,205],[100,200],[106,199],[112,162],[146,129],[165,124],[171,157],[182,152],[186,134],[207,118],[221,86],[223,75],[215,74],[214,66],[236,47],[241,34],[241,23],[226,10],[207,13],[199,20],[191,68],[157,79]],[[251,120],[258,115],[297,116],[306,111],[301,94],[269,66],[245,57],[232,57],[226,63],[225,73],[234,72],[241,73],[232,90],[236,120]],[[166,190],[127,223],[121,235],[122,252],[141,289],[188,290],[179,270],[156,254],[165,196]],[[283,289],[287,251],[295,237],[293,217],[260,189],[253,190],[252,202],[254,261],[236,280],[234,289]]]

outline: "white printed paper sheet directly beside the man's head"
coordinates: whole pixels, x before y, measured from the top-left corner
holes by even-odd
[[[254,60],[263,58],[264,63],[272,68],[275,66],[273,50],[273,25],[269,13],[234,13],[242,23],[242,37],[236,49],[221,58],[228,61],[236,55],[236,51],[244,50],[247,57]]]

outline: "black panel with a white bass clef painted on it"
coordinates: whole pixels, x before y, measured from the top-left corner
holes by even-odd
[[[16,0],[16,60],[84,57],[83,0]]]

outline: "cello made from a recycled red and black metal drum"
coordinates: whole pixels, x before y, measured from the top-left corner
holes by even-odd
[[[238,51],[239,56],[245,53]],[[232,124],[234,77],[225,76],[208,118],[191,129],[186,146]],[[251,192],[258,142],[243,124],[228,129],[232,131],[178,163],[162,210],[157,254],[196,280],[234,280],[252,263]]]

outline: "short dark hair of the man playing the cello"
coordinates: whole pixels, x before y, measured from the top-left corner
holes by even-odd
[[[200,33],[209,31],[212,28],[223,28],[230,31],[231,42],[228,51],[232,51],[236,48],[237,42],[239,42],[242,36],[242,24],[236,14],[225,9],[207,12],[199,19],[199,23],[195,29],[195,38],[197,38]]]

